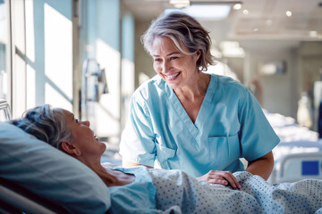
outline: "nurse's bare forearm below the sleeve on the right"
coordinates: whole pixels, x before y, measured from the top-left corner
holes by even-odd
[[[272,152],[258,158],[255,161],[249,161],[246,171],[253,175],[258,175],[264,179],[268,179],[274,167],[274,156]]]

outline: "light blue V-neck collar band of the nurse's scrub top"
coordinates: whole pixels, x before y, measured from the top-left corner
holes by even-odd
[[[201,107],[199,109],[197,119],[194,123],[192,122],[188,113],[184,110],[182,103],[180,103],[179,98],[175,95],[174,90],[172,89],[168,90],[170,103],[172,103],[174,110],[182,119],[182,123],[186,126],[186,128],[189,129],[192,136],[196,137],[199,134],[199,128],[207,120],[206,118],[208,117],[207,115],[208,107],[215,93],[216,84],[214,83],[214,81],[215,81],[215,76],[210,75],[210,81],[208,84],[206,95],[201,103]]]

